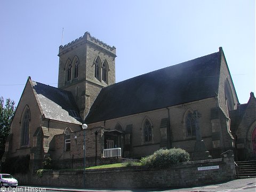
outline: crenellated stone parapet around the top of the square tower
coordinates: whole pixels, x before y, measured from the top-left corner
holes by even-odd
[[[106,50],[110,53],[113,53],[114,55],[116,55],[116,47],[115,46],[110,46],[102,41],[100,41],[99,39],[93,37],[90,35],[90,33],[88,31],[86,31],[84,33],[84,36],[81,36],[79,38],[77,38],[75,41],[72,41],[66,45],[60,45],[59,46],[59,56],[61,54],[65,54],[70,50],[73,50],[74,47],[78,47],[81,46],[85,43],[91,44],[93,46],[97,46],[100,49]]]

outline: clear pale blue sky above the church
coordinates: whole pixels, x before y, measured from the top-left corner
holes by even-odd
[[[218,52],[240,103],[255,94],[255,1],[0,1],[0,96],[57,86],[58,51],[85,31],[116,47],[116,82]]]

